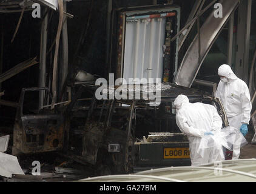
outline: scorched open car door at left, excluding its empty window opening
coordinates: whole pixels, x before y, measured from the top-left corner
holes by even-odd
[[[13,129],[13,155],[61,150],[64,145],[66,122],[62,113],[41,110],[33,115],[23,115],[24,95],[27,91],[44,91],[47,88],[22,89]],[[50,93],[49,96],[51,97]]]

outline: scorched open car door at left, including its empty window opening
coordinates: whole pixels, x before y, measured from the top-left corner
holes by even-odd
[[[39,105],[39,93],[45,102]],[[49,89],[22,89],[13,129],[12,154],[40,153],[62,150],[67,133],[64,112],[50,109],[52,95]]]

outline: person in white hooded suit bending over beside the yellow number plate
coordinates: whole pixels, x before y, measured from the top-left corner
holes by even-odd
[[[192,166],[198,166],[209,162],[224,160],[222,147],[211,147],[198,152],[200,142],[204,136],[214,135],[221,130],[222,120],[217,109],[210,104],[201,102],[190,103],[187,96],[179,95],[174,105],[177,109],[176,122],[181,132],[189,139],[190,159]]]

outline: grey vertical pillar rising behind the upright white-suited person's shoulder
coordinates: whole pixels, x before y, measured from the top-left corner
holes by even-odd
[[[235,74],[248,82],[249,41],[251,28],[252,0],[241,1],[238,8],[237,48]]]

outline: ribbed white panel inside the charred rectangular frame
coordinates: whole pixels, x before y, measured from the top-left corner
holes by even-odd
[[[161,78],[165,18],[126,22],[123,78]],[[129,82],[132,84],[132,82]]]

